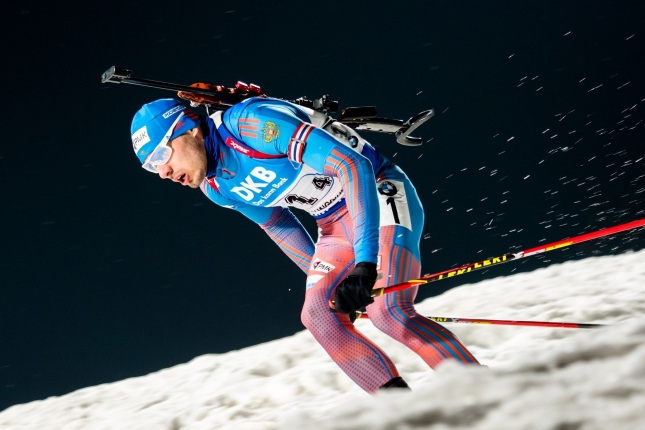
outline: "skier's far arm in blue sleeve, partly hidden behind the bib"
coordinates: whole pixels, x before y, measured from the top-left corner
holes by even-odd
[[[206,196],[216,204],[235,209],[258,224],[280,247],[287,257],[305,273],[311,266],[314,242],[300,221],[288,208],[253,206],[228,200],[204,181],[201,186]]]

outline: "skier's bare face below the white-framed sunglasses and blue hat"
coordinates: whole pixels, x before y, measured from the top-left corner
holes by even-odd
[[[206,148],[201,129],[196,127],[188,133],[171,140],[168,146],[172,155],[166,164],[157,166],[162,179],[170,179],[191,188],[198,188],[206,177]]]

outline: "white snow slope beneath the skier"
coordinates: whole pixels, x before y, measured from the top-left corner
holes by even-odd
[[[426,315],[612,324],[451,324],[484,367],[437,372],[380,334],[412,386],[375,398],[307,332],[0,412],[10,429],[645,429],[645,250],[464,285]],[[473,274],[472,277],[476,277]],[[432,288],[432,284],[422,287]]]

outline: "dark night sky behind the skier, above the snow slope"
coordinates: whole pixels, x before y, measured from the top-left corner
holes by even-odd
[[[112,65],[435,108],[420,148],[365,134],[417,186],[424,273],[645,217],[642,1],[186,4],[2,5],[0,410],[303,329],[304,275],[258,227],[139,167],[132,115],[171,93],[101,84]],[[622,234],[420,299],[643,247]]]

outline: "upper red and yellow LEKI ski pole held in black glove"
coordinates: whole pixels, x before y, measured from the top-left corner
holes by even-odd
[[[534,248],[525,249],[524,251],[504,254],[499,257],[488,258],[486,260],[478,261],[477,263],[470,263],[457,267],[455,269],[448,269],[442,272],[437,272],[429,275],[423,275],[418,279],[410,279],[406,282],[389,287],[375,288],[372,290],[372,297],[382,296],[383,294],[393,293],[395,291],[404,290],[406,288],[414,287],[417,285],[428,284],[430,282],[441,281],[442,279],[452,278],[453,276],[463,275],[475,270],[483,269],[486,267],[498,265],[501,263],[508,263],[509,261],[519,260],[521,258],[530,257],[532,255],[542,254],[543,252],[553,251],[554,249],[565,248],[577,243],[586,242],[588,240],[598,239],[601,237],[609,236],[611,234],[620,233],[626,230],[631,230],[637,227],[645,226],[645,218],[620,224],[615,227],[609,227],[602,230],[597,230],[591,233],[581,234],[569,239],[560,240],[557,242],[548,243],[546,245],[536,246]]]

